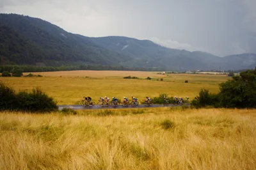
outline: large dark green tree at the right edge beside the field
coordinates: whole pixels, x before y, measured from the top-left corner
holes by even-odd
[[[223,107],[256,107],[256,68],[246,70],[220,84]]]

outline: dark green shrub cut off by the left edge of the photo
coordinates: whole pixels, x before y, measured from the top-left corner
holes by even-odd
[[[17,107],[17,98],[13,88],[0,82],[0,110],[12,110]]]

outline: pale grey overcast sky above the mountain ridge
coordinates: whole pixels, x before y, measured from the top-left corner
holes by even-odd
[[[218,56],[256,52],[256,0],[0,0],[84,36],[129,36]]]

